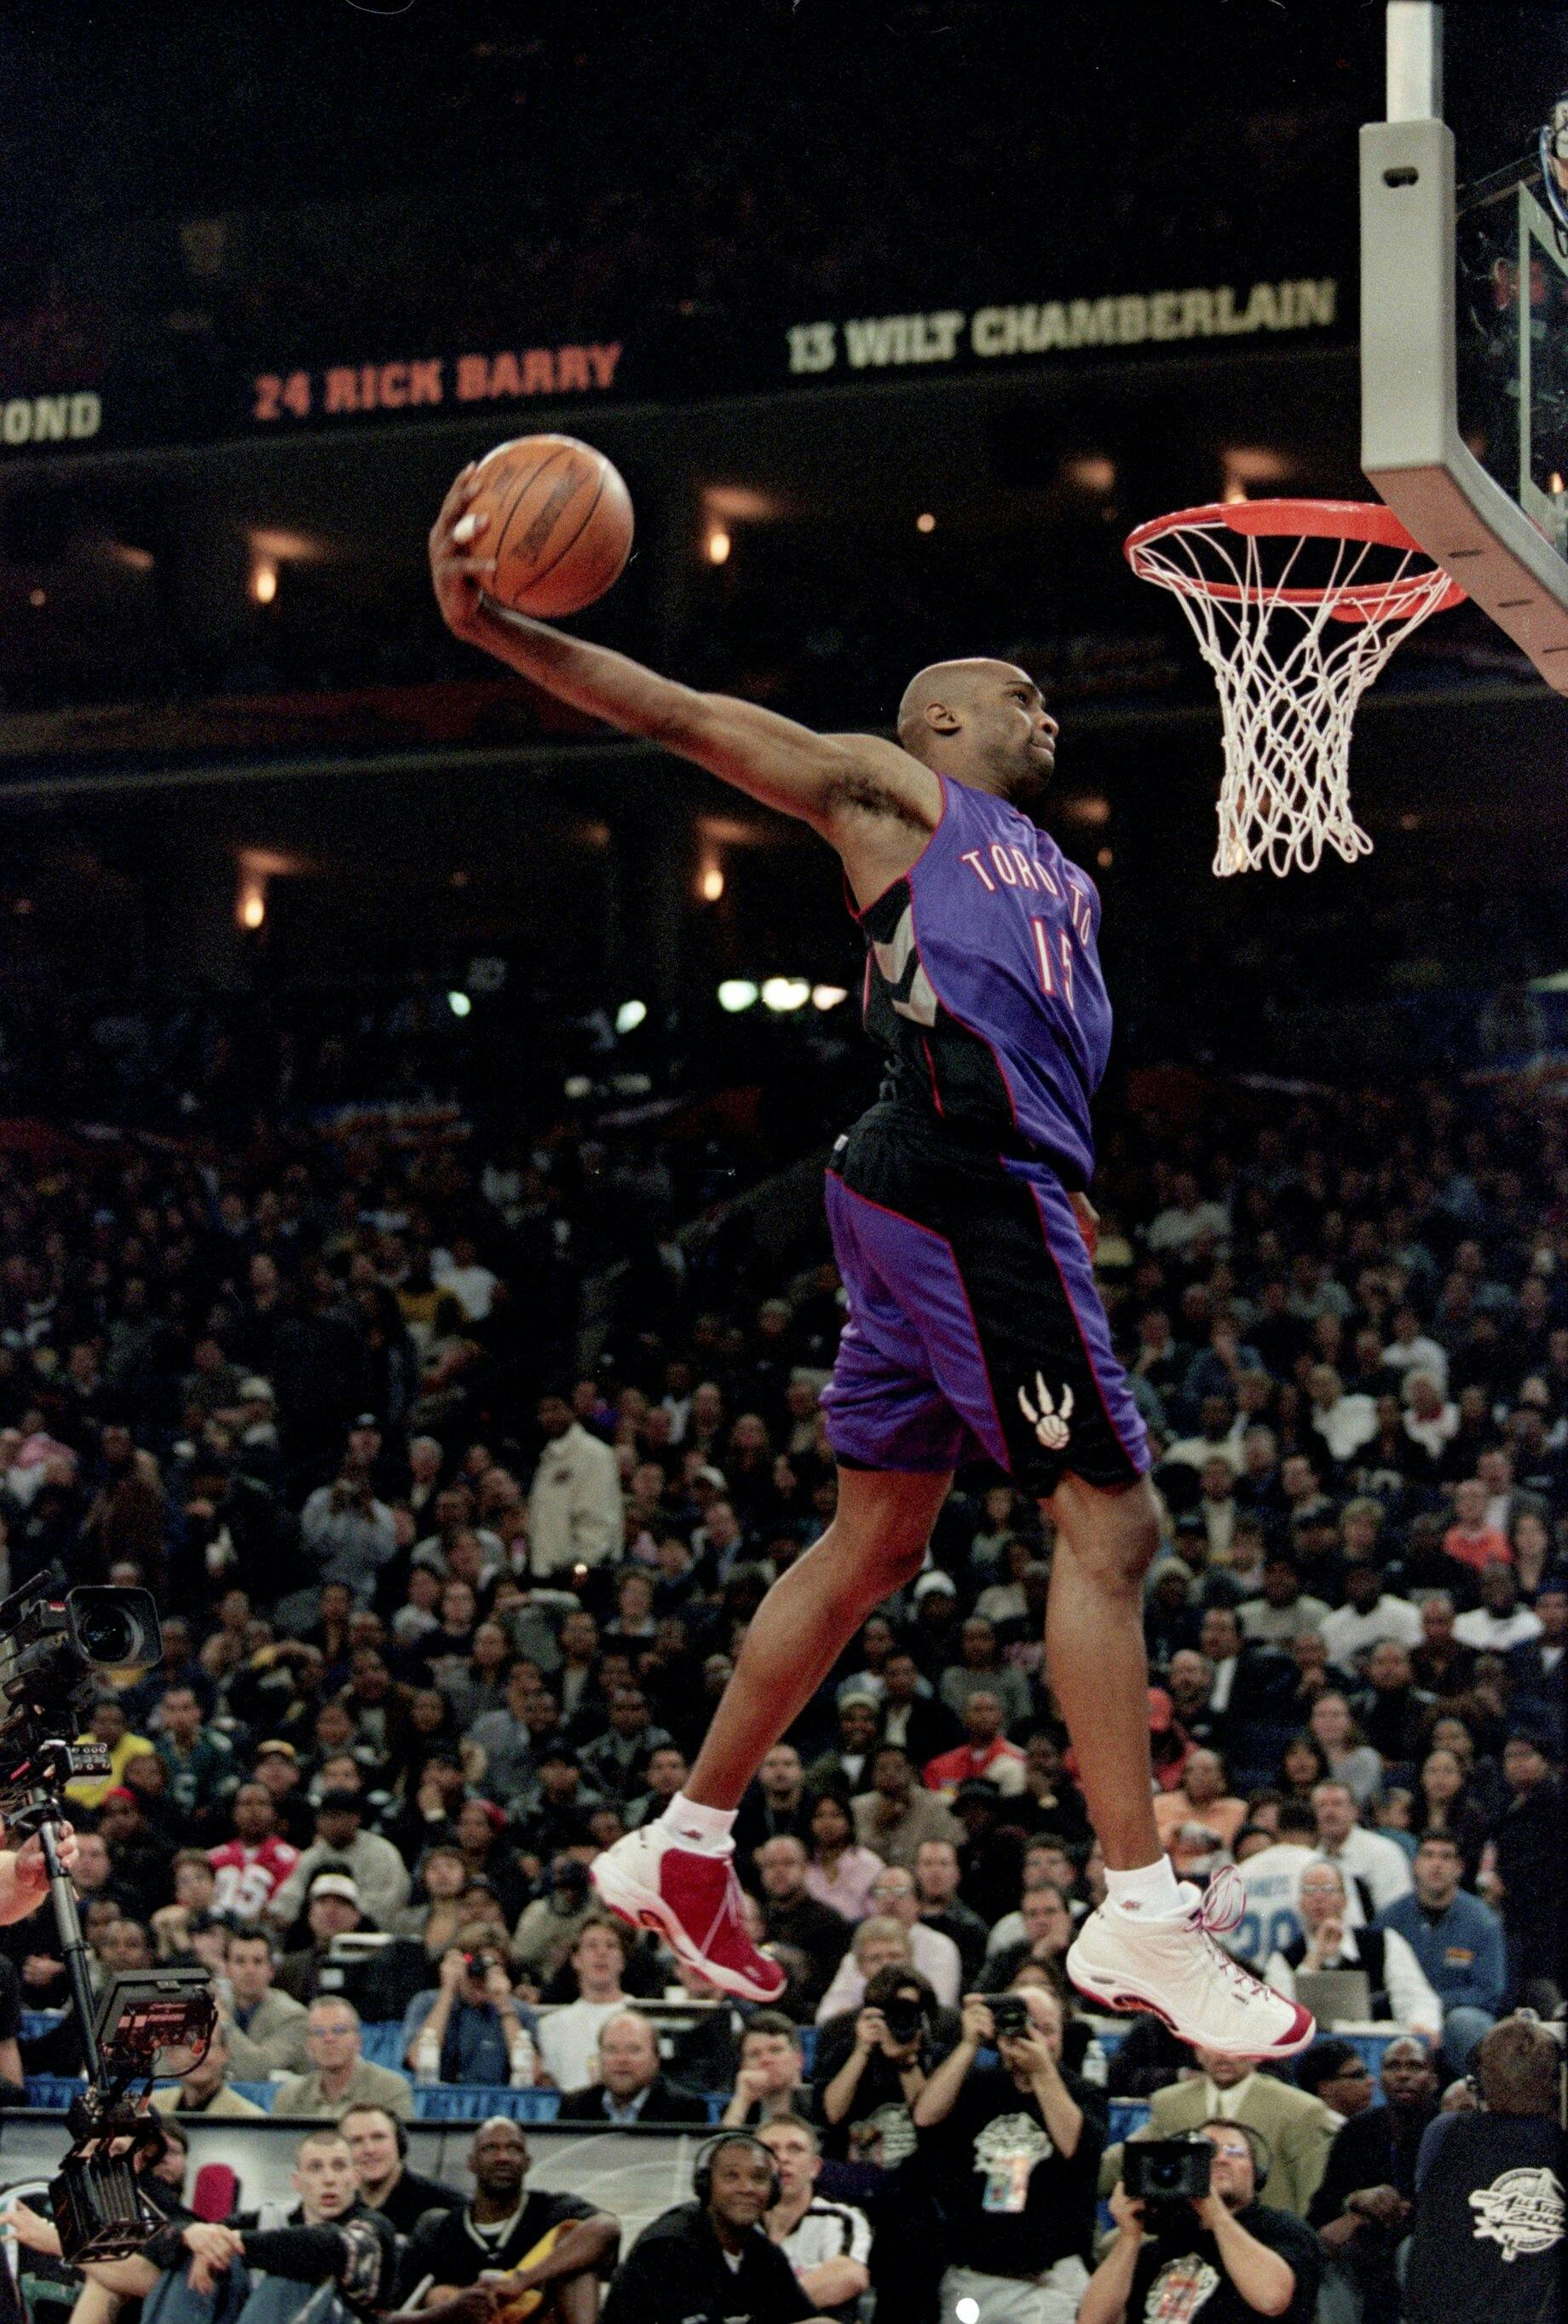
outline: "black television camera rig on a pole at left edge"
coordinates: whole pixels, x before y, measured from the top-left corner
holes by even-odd
[[[56,1845],[65,1785],[109,1773],[102,1743],[77,1741],[93,1673],[146,1669],[160,1657],[163,1629],[146,1590],[67,1590],[51,1566],[0,1604],[0,1813],[16,1841],[39,1836],[88,2066],[67,2117],[72,2147],[49,2189],[70,2261],[125,2259],[158,2229],[135,2180],[135,2150],[163,2138],[146,2115],[146,2092],[163,2075],[188,2073],[216,2024],[211,1980],[200,1966],[130,1971],[93,1999],[77,1892]]]

